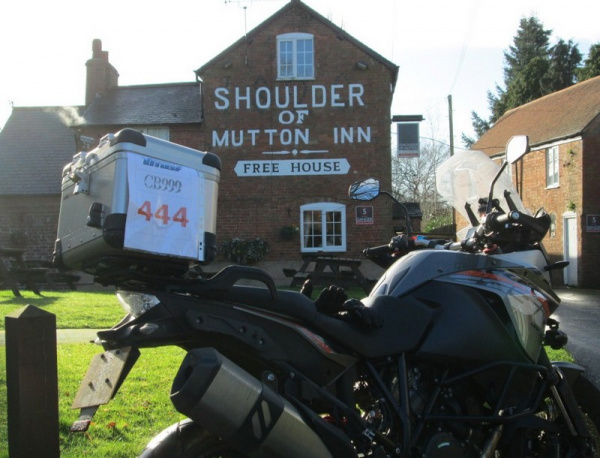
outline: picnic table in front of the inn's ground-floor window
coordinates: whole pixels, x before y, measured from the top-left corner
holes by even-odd
[[[290,286],[302,285],[310,278],[315,286],[359,286],[367,294],[371,291],[373,281],[365,278],[360,271],[360,259],[305,253],[302,261],[302,266],[297,271],[284,269],[284,274],[292,277]]]

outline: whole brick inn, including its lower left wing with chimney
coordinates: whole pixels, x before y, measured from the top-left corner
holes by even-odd
[[[123,127],[219,155],[218,242],[265,240],[270,250],[262,267],[274,274],[300,264],[301,253],[355,257],[393,235],[391,202],[358,204],[347,189],[368,176],[391,188],[390,107],[398,67],[302,2],[290,1],[201,66],[195,82],[119,86],[99,40],[86,66],[86,105],[73,109],[77,116],[68,123],[57,124],[57,115],[52,120],[64,143],[22,124],[27,110],[50,122],[48,107],[15,108],[0,133],[2,161],[20,164],[12,181],[19,186],[0,187],[0,199],[12,199],[0,203],[17,212],[2,221],[0,243],[8,232],[23,231],[28,256],[49,259],[62,167],[86,143]],[[35,148],[20,147],[17,128],[29,132]],[[25,215],[35,214],[30,209],[39,201],[33,194],[41,194],[42,171],[48,216],[33,230]],[[371,215],[367,224],[357,217],[363,207]],[[300,229],[291,240],[281,236],[288,226]],[[38,243],[33,234],[43,231]]]

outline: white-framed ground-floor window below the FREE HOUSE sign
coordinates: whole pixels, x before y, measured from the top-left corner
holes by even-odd
[[[346,206],[318,202],[300,207],[302,251],[346,251]]]

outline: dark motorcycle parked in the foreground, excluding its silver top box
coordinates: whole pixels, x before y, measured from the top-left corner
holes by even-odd
[[[508,162],[526,150],[509,142]],[[508,186],[495,203],[502,170],[485,220],[467,210],[465,240],[402,256],[361,301],[335,287],[313,301],[244,266],[210,279],[119,277],[127,315],[98,332],[105,352],[76,397],[74,429],[116,394],[140,348],[178,345],[187,355],[171,400],[188,419],[142,457],[598,456],[571,389],[583,368],[544,349],[566,343],[550,318],[560,300],[548,271],[560,264],[541,246],[549,218],[520,209]],[[380,193],[373,179],[349,190]],[[263,286],[238,284],[248,279]]]

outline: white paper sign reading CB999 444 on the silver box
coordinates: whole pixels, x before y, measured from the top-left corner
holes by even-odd
[[[197,170],[129,153],[129,203],[124,247],[204,260],[204,179]]]

